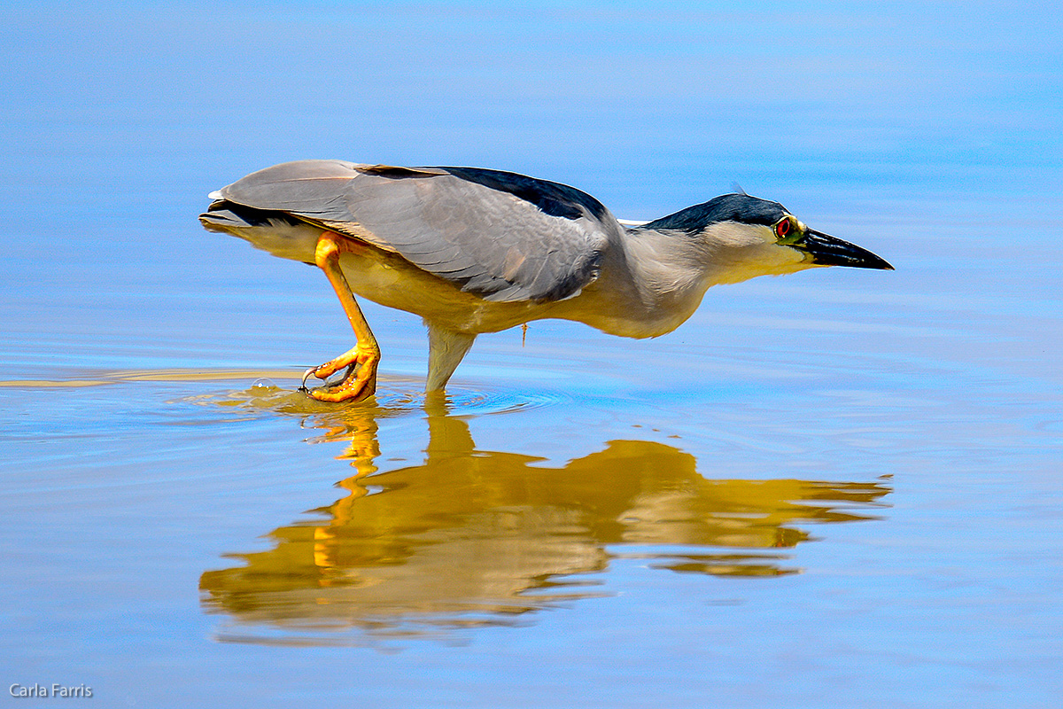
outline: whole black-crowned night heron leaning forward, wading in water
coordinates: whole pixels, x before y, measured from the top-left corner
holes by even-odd
[[[210,198],[206,229],[317,264],[336,289],[357,344],[303,376],[305,386],[345,370],[309,391],[320,401],[376,390],[381,351],[353,293],[424,319],[432,391],[480,333],[562,318],[656,337],[716,284],[816,266],[893,268],[748,195],[625,226],[590,195],[511,172],[300,161]]]

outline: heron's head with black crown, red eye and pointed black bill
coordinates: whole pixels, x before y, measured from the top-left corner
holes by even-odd
[[[643,226],[692,239],[714,283],[780,275],[816,266],[893,270],[866,249],[809,229],[778,202],[724,195]]]

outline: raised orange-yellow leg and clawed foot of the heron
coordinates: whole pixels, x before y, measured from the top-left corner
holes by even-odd
[[[351,286],[347,283],[343,271],[339,268],[339,256],[343,251],[352,251],[351,241],[334,232],[325,232],[318,239],[314,260],[328,277],[328,283],[336,290],[339,302],[343,306],[347,319],[351,321],[354,336],[358,343],[319,367],[311,367],[303,375],[303,385],[313,374],[319,379],[325,379],[331,374],[347,368],[349,371],[343,381],[327,389],[310,389],[307,393],[318,401],[362,401],[376,391],[376,366],[381,361],[381,348],[373,337],[373,332],[366,322],[366,317],[354,300]]]

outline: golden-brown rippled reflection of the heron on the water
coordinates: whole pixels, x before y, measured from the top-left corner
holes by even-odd
[[[693,456],[638,440],[551,467],[478,451],[441,399],[425,409],[424,462],[377,474],[386,411],[314,417],[325,439],[350,441],[347,494],[316,510],[320,521],[273,530],[273,548],[233,554],[241,565],[204,573],[204,604],[240,624],[304,632],[506,623],[602,593],[593,572],[618,557],[675,572],[794,573],[780,550],[809,538],[796,524],[872,519],[868,508],[889,492],[874,483],[706,478]]]

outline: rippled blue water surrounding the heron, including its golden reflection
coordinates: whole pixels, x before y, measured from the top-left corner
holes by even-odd
[[[3,12],[0,687],[1060,705],[1054,7]],[[321,273],[196,221],[304,157],[630,219],[738,183],[897,270],[714,288],[647,341],[480,337],[443,401],[420,322],[368,305],[379,395],[322,406],[299,374],[351,342]]]

